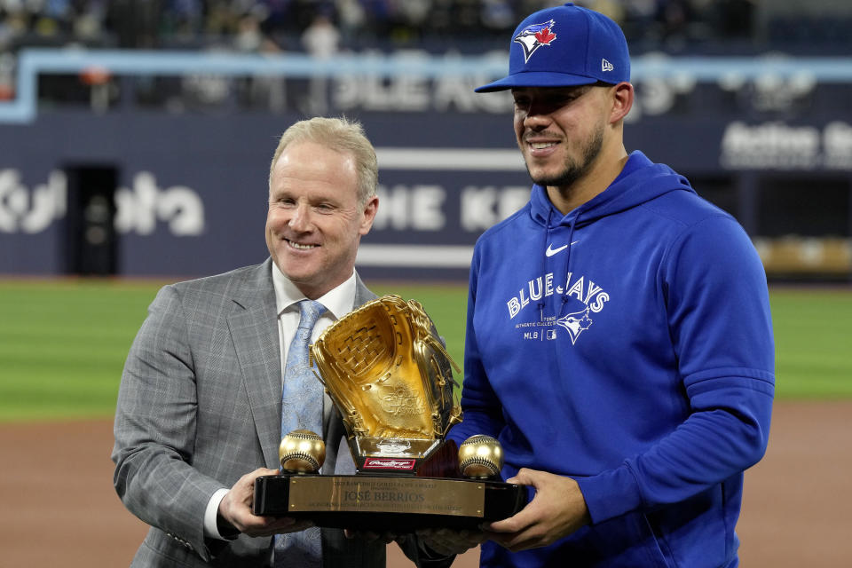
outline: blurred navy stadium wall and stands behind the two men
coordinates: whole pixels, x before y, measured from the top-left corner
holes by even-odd
[[[517,20],[494,4],[517,3],[462,3],[491,12],[448,12],[444,28],[434,11],[419,26],[412,11],[396,23],[367,13],[360,34],[341,16],[351,3],[319,4],[338,30],[327,51],[303,42],[312,14],[275,28],[268,6],[241,14],[231,36],[196,27],[192,42],[177,24],[134,27],[130,10],[103,15],[119,20],[103,20],[98,41],[42,41],[28,20],[15,43],[4,43],[15,14],[0,7],[0,275],[193,276],[260,262],[276,138],[301,118],[346,114],[380,165],[359,271],[466,278],[477,236],[529,193],[509,95],[472,92],[507,67]],[[631,41],[628,150],[738,217],[770,277],[852,279],[852,5],[580,4],[611,11]]]

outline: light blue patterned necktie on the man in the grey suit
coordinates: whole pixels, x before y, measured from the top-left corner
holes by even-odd
[[[317,319],[326,307],[313,300],[299,302],[299,327],[287,351],[281,395],[281,436],[293,430],[311,430],[322,436],[322,383],[308,364],[308,344]],[[318,526],[275,537],[275,568],[312,568],[322,565]]]

